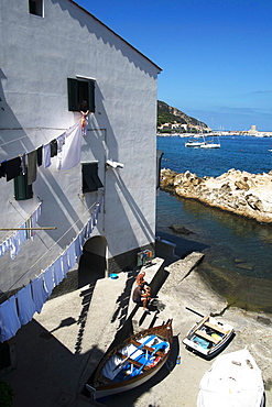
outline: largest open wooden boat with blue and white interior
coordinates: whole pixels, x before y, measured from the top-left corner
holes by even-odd
[[[167,361],[172,349],[172,320],[145,329],[113,348],[99,363],[94,383],[86,388],[94,399],[140,386]]]

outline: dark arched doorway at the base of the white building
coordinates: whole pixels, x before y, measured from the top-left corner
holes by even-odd
[[[104,237],[87,240],[79,260],[78,288],[106,276],[106,250],[107,240]]]

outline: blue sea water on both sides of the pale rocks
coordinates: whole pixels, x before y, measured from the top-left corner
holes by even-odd
[[[272,169],[272,139],[221,136],[220,148],[185,147],[187,139],[157,138],[162,168],[217,177],[230,168],[252,174]],[[171,224],[191,233],[175,234]],[[272,224],[258,223],[193,199],[160,191],[156,234],[176,244],[181,257],[205,254],[197,272],[229,305],[272,314]]]

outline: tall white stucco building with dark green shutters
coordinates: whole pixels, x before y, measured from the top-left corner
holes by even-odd
[[[98,202],[78,278],[75,264],[59,287],[133,267],[139,251],[154,249],[160,67],[72,0],[2,0],[0,10],[0,229],[9,229],[0,235],[1,292],[17,292],[54,264]],[[58,156],[46,168],[43,156],[30,182],[31,153],[56,145],[80,120],[84,100],[90,113],[80,162],[58,170]],[[25,155],[29,175],[22,175]],[[40,205],[43,229],[20,251],[17,240],[3,253],[12,229],[25,227]]]

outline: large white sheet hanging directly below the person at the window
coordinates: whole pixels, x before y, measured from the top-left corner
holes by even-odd
[[[75,167],[81,157],[81,127],[74,124],[65,134],[65,144],[57,154],[56,169],[64,170]]]

